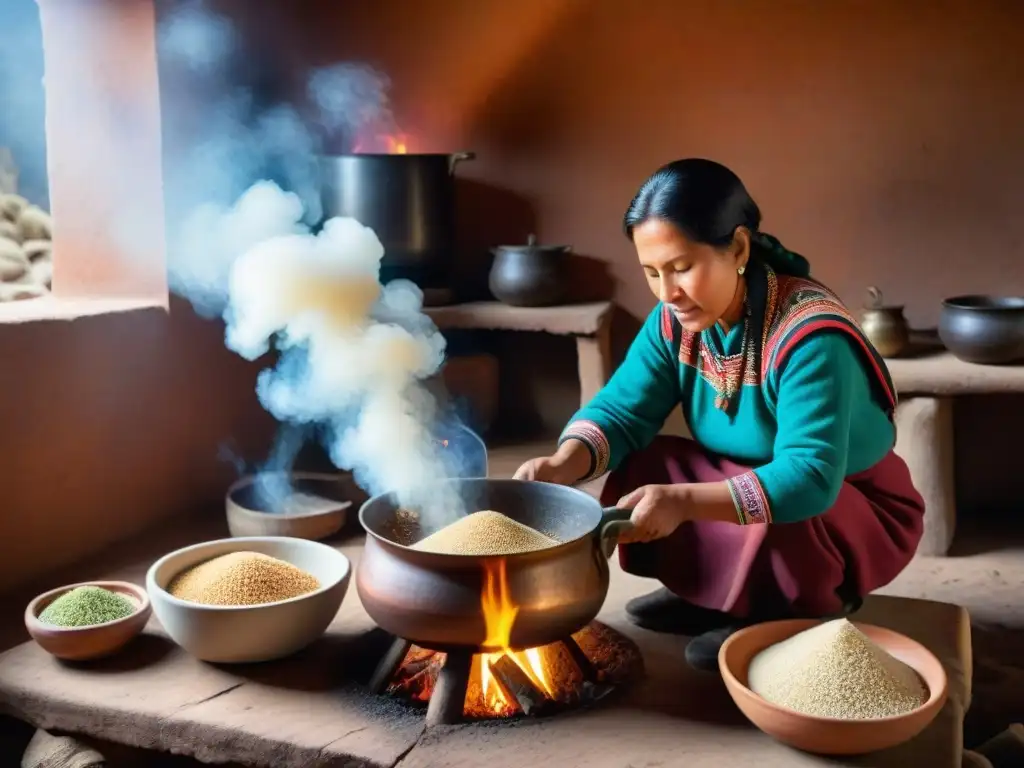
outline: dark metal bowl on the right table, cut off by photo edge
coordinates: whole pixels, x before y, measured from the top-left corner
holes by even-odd
[[[1024,297],[954,296],[942,302],[939,338],[966,362],[1024,360]]]

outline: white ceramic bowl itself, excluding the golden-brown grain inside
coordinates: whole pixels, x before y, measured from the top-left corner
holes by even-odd
[[[185,568],[229,552],[259,552],[314,575],[321,588],[262,605],[201,605],[167,586]],[[291,655],[327,630],[348,591],[348,558],[326,544],[289,537],[246,537],[195,544],[164,555],[145,574],[153,612],[171,639],[204,662],[241,664]]]

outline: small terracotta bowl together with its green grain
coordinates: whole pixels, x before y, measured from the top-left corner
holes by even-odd
[[[25,627],[48,653],[69,662],[121,650],[150,621],[145,590],[128,582],[82,582],[44,592],[25,609]]]

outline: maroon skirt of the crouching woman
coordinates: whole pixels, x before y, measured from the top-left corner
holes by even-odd
[[[750,470],[693,440],[658,436],[608,475],[601,503],[641,485],[713,482]],[[836,504],[808,520],[684,522],[671,536],[620,547],[623,569],[657,579],[694,605],[736,616],[829,615],[889,584],[913,557],[925,504],[890,452],[850,475]]]

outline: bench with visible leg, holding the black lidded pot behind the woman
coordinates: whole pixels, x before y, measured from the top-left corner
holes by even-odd
[[[425,307],[424,312],[442,331],[523,331],[574,337],[580,402],[586,404],[611,376],[613,308],[610,301],[551,307],[515,307],[498,301],[474,301]]]

